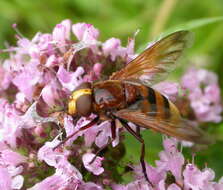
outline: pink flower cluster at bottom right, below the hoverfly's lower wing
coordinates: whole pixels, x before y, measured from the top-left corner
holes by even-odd
[[[185,162],[182,152],[177,149],[177,141],[165,139],[164,151],[159,153],[156,167],[147,165],[147,174],[153,187],[143,179],[142,169],[135,166],[135,181],[127,185],[113,185],[113,190],[221,190],[223,177],[214,182],[215,173],[210,168],[200,170],[194,163]]]

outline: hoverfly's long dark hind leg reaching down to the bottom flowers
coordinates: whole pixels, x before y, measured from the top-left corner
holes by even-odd
[[[147,173],[146,173],[146,165],[145,165],[145,143],[144,143],[143,138],[140,136],[140,134],[137,134],[137,132],[135,132],[128,125],[128,123],[125,120],[123,120],[121,118],[119,118],[119,120],[122,123],[123,127],[141,143],[140,163],[141,163],[141,166],[142,166],[142,171],[143,171],[143,174],[144,174],[144,177],[145,177],[146,181],[148,181],[148,183],[153,187],[153,184],[149,181],[149,178],[148,178]]]

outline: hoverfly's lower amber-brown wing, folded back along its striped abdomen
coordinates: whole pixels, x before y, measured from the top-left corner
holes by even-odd
[[[191,141],[197,144],[212,144],[213,139],[195,127],[190,121],[179,117],[175,121],[158,119],[154,113],[143,113],[140,110],[123,109],[115,113],[115,116],[132,122],[140,127],[176,137],[180,140]]]

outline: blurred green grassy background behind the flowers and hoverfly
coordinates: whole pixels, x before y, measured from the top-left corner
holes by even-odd
[[[66,18],[73,23],[91,23],[100,30],[101,41],[117,37],[123,45],[140,29],[136,50],[161,33],[190,29],[196,36],[194,45],[186,54],[187,61],[171,77],[178,79],[185,67],[197,64],[216,72],[220,86],[223,86],[222,0],[1,0],[0,48],[5,48],[6,43],[15,44],[13,23],[17,23],[24,36],[32,38],[37,31],[51,32]],[[223,175],[223,124],[213,125],[213,128],[219,134],[218,142],[197,153],[195,161],[201,167],[207,163],[219,178]],[[147,131],[144,137],[148,147],[147,160],[153,163],[162,150],[161,135]],[[126,159],[138,161],[138,142],[131,136],[127,136],[126,142],[130,145]],[[184,152],[191,160],[189,150]]]

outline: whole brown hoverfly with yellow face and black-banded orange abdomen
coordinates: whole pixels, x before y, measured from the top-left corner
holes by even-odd
[[[124,68],[113,73],[108,80],[93,84],[82,83],[72,92],[68,102],[68,114],[72,116],[87,117],[90,113],[98,115],[80,130],[90,128],[98,121],[110,120],[114,139],[114,121],[118,120],[141,143],[140,162],[148,182],[144,140],[139,130],[133,130],[128,122],[180,140],[210,143],[203,131],[181,117],[178,108],[170,100],[151,88],[175,68],[176,61],[188,47],[190,38],[189,31],[178,31],[162,38]],[[75,134],[68,136],[59,145]]]

